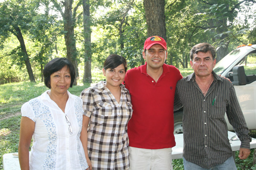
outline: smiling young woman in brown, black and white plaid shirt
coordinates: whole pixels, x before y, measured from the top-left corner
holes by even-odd
[[[127,66],[124,57],[110,55],[103,65],[106,82],[82,91],[88,155],[93,170],[128,170],[127,124],[132,116],[131,98],[121,84]],[[87,141],[86,141],[87,142]]]

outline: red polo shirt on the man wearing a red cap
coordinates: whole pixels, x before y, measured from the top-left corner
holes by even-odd
[[[125,86],[131,94],[133,115],[128,122],[129,146],[163,149],[175,146],[173,104],[176,83],[182,79],[174,66],[164,64],[157,82],[147,74],[147,63],[129,69]]]

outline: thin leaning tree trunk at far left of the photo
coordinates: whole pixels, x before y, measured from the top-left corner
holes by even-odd
[[[18,26],[16,26],[14,29],[16,31],[15,36],[18,38],[18,40],[20,42],[20,48],[21,48],[21,52],[23,53],[23,59],[24,59],[24,62],[26,64],[26,67],[27,67],[27,73],[28,73],[28,76],[29,76],[29,80],[30,80],[30,82],[35,82],[33,70],[32,70],[32,67],[31,67],[31,64],[30,64],[30,61],[29,61],[29,57],[27,55],[27,49],[26,49],[26,45],[25,45],[22,33],[21,33],[20,28]]]

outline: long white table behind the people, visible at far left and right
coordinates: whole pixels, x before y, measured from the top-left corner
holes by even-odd
[[[229,132],[229,139],[236,135],[234,132]],[[175,134],[176,146],[173,147],[172,159],[182,158],[183,152],[183,134]],[[231,143],[232,151],[239,151],[241,142],[240,140],[233,140]],[[250,147],[256,148],[256,139],[252,139]],[[13,153],[7,153],[3,155],[4,170],[20,170],[19,158],[13,156]]]

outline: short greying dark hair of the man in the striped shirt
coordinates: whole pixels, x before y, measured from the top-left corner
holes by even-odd
[[[194,54],[197,54],[198,52],[210,52],[212,55],[213,60],[216,57],[216,50],[214,48],[214,46],[212,46],[211,44],[208,43],[200,43],[200,44],[196,44],[194,47],[192,47],[192,49],[190,50],[190,60],[193,60]]]

